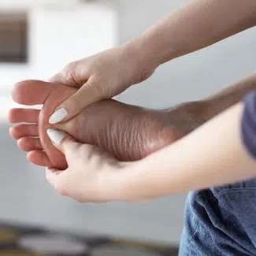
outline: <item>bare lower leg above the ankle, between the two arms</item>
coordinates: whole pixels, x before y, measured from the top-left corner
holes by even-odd
[[[217,92],[215,95],[202,100],[202,117],[207,121],[230,106],[238,103],[248,92],[256,89],[256,72],[245,79],[232,84]]]

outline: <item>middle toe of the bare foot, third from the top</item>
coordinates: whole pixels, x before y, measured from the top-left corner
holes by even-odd
[[[38,137],[38,126],[35,124],[19,124],[9,129],[9,134],[13,139],[20,139],[23,137]]]

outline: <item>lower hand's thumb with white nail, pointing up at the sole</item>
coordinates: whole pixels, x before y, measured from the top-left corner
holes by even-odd
[[[65,154],[66,158],[69,158],[71,154],[76,152],[81,145],[76,141],[76,139],[72,138],[72,136],[68,135],[66,132],[54,129],[47,129],[46,132],[52,143],[54,143],[54,146]]]

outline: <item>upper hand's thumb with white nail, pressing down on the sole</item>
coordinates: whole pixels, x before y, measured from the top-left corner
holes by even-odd
[[[61,121],[68,121],[80,113],[86,106],[103,98],[103,93],[101,90],[98,90],[98,84],[89,79],[75,94],[67,98],[55,109],[49,119],[49,123],[57,124]]]

